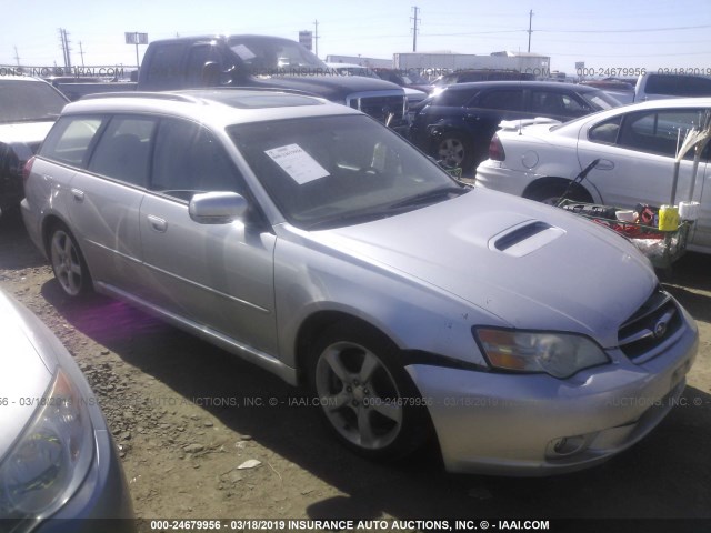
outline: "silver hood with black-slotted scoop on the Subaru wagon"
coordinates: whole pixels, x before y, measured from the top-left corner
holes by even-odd
[[[339,252],[520,329],[574,331],[604,346],[658,284],[613,231],[563,210],[473,190],[402,215],[317,232]]]

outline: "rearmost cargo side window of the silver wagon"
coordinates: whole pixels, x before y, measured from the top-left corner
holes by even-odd
[[[103,120],[100,117],[60,118],[44,139],[39,154],[72,167],[84,167],[89,147]]]

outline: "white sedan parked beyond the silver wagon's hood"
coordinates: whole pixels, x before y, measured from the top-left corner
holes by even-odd
[[[671,202],[680,139],[711,112],[711,99],[635,103],[562,125],[509,123],[491,142],[489,160],[477,169],[477,185],[551,203],[583,167],[601,159],[571,199],[621,208]],[[711,253],[709,147],[693,184],[692,154],[680,162],[675,200],[700,202],[688,248]]]

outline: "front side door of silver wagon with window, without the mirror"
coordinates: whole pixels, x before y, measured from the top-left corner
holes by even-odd
[[[150,189],[140,220],[152,303],[276,353],[276,237],[249,221],[198,223],[188,212],[196,192],[246,191],[219,141],[192,122],[163,120]]]

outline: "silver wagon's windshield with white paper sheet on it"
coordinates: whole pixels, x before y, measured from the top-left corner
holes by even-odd
[[[303,229],[392,217],[470,189],[362,115],[228,129],[283,217]]]

